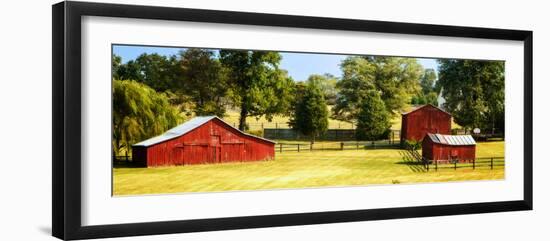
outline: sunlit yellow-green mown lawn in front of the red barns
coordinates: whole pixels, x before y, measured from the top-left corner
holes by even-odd
[[[503,157],[504,142],[478,143],[478,157]],[[426,172],[398,149],[276,153],[273,161],[162,168],[115,168],[114,195],[218,192],[504,178],[488,166]]]

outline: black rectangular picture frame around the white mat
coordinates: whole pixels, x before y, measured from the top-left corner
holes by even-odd
[[[532,210],[533,33],[523,30],[335,19],[90,2],[52,6],[52,233],[60,239],[106,238],[213,230],[308,225]],[[351,30],[427,36],[517,40],[524,43],[524,194],[522,200],[282,215],[82,226],[81,224],[81,17],[195,21],[258,26]]]

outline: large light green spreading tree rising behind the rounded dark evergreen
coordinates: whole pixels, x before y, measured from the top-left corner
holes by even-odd
[[[348,57],[340,65],[343,76],[337,83],[340,90],[333,116],[355,121],[363,98],[370,91],[379,91],[390,115],[395,115],[420,91],[422,66],[414,58]]]

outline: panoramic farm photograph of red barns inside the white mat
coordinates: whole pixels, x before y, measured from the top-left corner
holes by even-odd
[[[112,195],[505,178],[505,62],[112,45]]]

